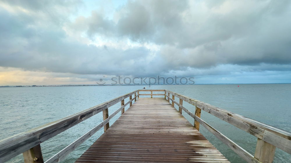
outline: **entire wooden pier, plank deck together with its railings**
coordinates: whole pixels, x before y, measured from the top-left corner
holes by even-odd
[[[150,94],[140,94],[140,92],[150,92]],[[154,94],[153,92],[162,93]],[[144,95],[148,95],[150,98],[140,98]],[[178,100],[175,100],[175,97]],[[125,103],[126,98],[129,98],[127,103]],[[119,102],[121,107],[109,115],[108,108]],[[187,110],[183,106],[183,102],[196,106],[195,113]],[[127,105],[130,107],[125,111]],[[178,110],[174,106],[178,106]],[[182,116],[182,111],[194,118],[194,126]],[[207,124],[200,118],[201,111],[210,113],[257,137],[254,155]],[[101,128],[104,128],[104,133],[76,160],[77,163],[228,162],[199,132],[200,125],[246,162],[272,162],[276,148],[291,154],[291,133],[289,132],[170,90],[136,90],[79,113],[1,140],[0,163],[21,153],[23,153],[25,163],[43,163],[40,146],[42,142],[100,112],[103,113],[103,121],[100,124],[96,124],[97,126],[45,162],[60,162]],[[119,112],[122,115],[109,127],[109,120]]]

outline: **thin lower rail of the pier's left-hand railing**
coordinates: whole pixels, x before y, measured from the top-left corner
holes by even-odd
[[[136,98],[136,97],[135,97]],[[133,99],[132,99],[133,100]],[[109,123],[109,120],[113,118],[118,112],[120,112],[125,106],[127,106],[132,100],[129,100],[126,104],[121,106],[118,110],[116,110],[114,113],[108,116],[107,119],[105,119],[103,122],[98,124],[96,127],[85,133],[83,136],[79,137],[79,139],[72,142],[70,145],[66,146],[64,149],[59,151],[57,154],[55,154],[53,157],[49,158],[45,163],[52,163],[52,162],[60,162],[63,158],[65,158],[68,154],[70,154],[72,151],[74,151],[79,145],[81,145],[83,142],[85,142],[89,137],[91,137],[93,134],[95,134],[102,126]]]

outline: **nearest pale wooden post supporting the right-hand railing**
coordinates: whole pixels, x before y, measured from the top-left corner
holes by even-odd
[[[273,162],[276,147],[258,138],[257,146],[255,147],[255,158],[263,163]]]

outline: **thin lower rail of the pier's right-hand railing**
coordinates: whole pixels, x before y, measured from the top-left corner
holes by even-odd
[[[196,121],[198,121],[200,124],[202,124],[208,131],[210,131],[214,136],[216,136],[221,142],[226,144],[230,149],[232,149],[235,153],[237,153],[240,157],[242,157],[244,160],[247,162],[255,162],[255,163],[260,163],[259,160],[255,159],[251,153],[247,152],[244,150],[242,147],[237,145],[235,142],[230,140],[228,137],[217,131],[215,128],[207,124],[205,121],[203,121],[201,118],[198,116],[194,115],[190,111],[188,111],[186,108],[182,107],[183,110],[189,114],[191,117],[193,117]]]

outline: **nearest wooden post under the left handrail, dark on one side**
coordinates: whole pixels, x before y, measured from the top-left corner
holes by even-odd
[[[23,153],[25,163],[43,163],[40,144]]]

